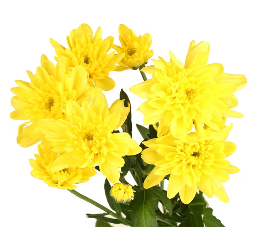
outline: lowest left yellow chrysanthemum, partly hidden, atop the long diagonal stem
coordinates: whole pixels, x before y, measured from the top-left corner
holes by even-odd
[[[52,152],[51,146],[45,141],[38,145],[38,152],[39,155],[35,154],[35,159],[29,159],[29,164],[34,169],[31,175],[50,187],[73,190],[76,188],[74,184],[87,182],[90,177],[96,175],[96,170],[93,168],[69,167],[52,172],[50,167],[56,158],[61,157],[61,154]]]

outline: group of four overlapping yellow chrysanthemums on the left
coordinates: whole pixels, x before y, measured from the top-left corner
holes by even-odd
[[[39,155],[30,159],[31,175],[51,187],[75,189],[100,172],[109,181],[119,181],[119,167],[125,155],[141,148],[127,132],[115,133],[130,112],[130,103],[116,100],[108,108],[102,90],[113,89],[109,72],[117,69],[125,53],[109,52],[113,37],[102,40],[99,28],[93,36],[87,24],[70,32],[69,49],[50,39],[56,66],[41,56],[36,74],[27,72],[30,82],[16,80],[11,91],[11,118],[26,120],[18,128],[17,143],[30,147],[40,141]],[[150,45],[149,45],[150,46]],[[143,54],[141,54],[143,55]],[[145,57],[144,57],[145,58]]]

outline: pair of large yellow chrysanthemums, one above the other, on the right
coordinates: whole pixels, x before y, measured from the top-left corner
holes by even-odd
[[[247,80],[244,75],[224,73],[219,63],[207,64],[208,55],[209,43],[196,45],[193,40],[185,65],[170,52],[169,62],[160,57],[153,60],[154,66],[141,70],[151,73],[152,79],[130,88],[146,99],[139,109],[144,124],[153,124],[158,136],[143,142],[148,147],[143,160],[155,165],[144,187],[153,187],[170,175],[168,198],[179,193],[184,204],[192,201],[197,189],[228,202],[222,183],[229,174],[239,172],[225,160],[236,150],[235,144],[225,141],[232,127],[225,126],[225,120],[243,117],[231,109],[238,104],[234,92]]]

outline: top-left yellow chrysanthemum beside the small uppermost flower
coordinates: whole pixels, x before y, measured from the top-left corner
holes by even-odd
[[[87,24],[81,24],[78,29],[73,29],[67,36],[69,49],[61,46],[55,40],[50,39],[55,48],[55,60],[66,65],[67,72],[76,66],[84,66],[88,72],[90,86],[100,87],[105,91],[113,89],[115,82],[108,77],[110,71],[116,69],[116,64],[124,57],[124,54],[108,54],[113,46],[114,38],[107,37],[102,41],[102,29],[99,27],[93,37],[93,31]]]

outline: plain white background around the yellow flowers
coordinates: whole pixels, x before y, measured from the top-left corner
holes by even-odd
[[[43,181],[30,176],[28,159],[37,147],[28,149],[16,144],[20,121],[9,118],[15,80],[29,81],[26,70],[35,72],[40,56],[50,60],[55,56],[49,43],[54,38],[64,46],[66,36],[81,23],[88,23],[95,32],[101,26],[103,37],[112,35],[119,45],[118,26],[124,23],[136,34],[150,33],[154,58],[169,60],[169,50],[185,60],[189,43],[204,40],[211,45],[209,63],[222,63],[225,72],[245,74],[247,86],[237,93],[236,110],[244,118],[231,119],[233,130],[229,141],[237,151],[229,158],[240,172],[224,184],[230,202],[207,199],[215,216],[226,227],[255,226],[255,6],[253,1],[87,1],[87,0],[5,0],[0,3],[0,226],[54,227],[94,226],[85,213],[101,213],[93,205],[76,198],[66,190],[47,187]],[[140,83],[138,71],[112,72],[116,87],[107,92],[108,103],[119,97],[123,88],[129,95],[135,123],[142,122],[136,109],[142,102],[131,94],[130,86]],[[141,137],[134,127],[134,138]],[[78,191],[108,206],[104,195],[105,178],[99,173]]]

